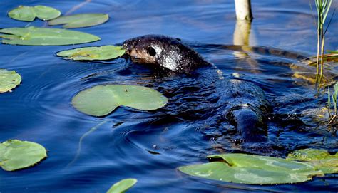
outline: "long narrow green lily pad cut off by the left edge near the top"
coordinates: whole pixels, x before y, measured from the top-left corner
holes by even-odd
[[[1,33],[6,33],[2,35]],[[60,28],[3,28],[2,43],[27,46],[61,46],[98,41],[98,36]]]

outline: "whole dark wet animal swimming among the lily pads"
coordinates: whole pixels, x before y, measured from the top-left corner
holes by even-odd
[[[212,63],[205,61],[192,48],[168,36],[147,35],[131,38],[123,43],[123,48],[136,63],[160,66],[178,74],[190,74],[198,68],[212,66]],[[270,104],[264,91],[247,81],[222,79],[215,68],[202,70],[198,78],[203,79],[205,87],[215,88],[218,95],[214,105],[218,111],[216,114],[234,125],[246,142],[266,140],[265,120]]]

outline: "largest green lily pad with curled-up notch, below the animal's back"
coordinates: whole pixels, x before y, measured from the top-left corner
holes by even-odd
[[[311,165],[277,157],[237,153],[208,157],[222,161],[178,169],[195,177],[239,184],[289,184],[306,182],[314,176],[324,176],[322,171],[316,171]]]

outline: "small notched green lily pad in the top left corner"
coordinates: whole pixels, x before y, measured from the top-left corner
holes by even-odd
[[[20,21],[34,21],[36,17],[47,21],[60,15],[60,11],[50,6],[19,6],[9,11],[9,17]]]

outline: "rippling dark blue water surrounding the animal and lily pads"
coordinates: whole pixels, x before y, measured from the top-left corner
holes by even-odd
[[[215,63],[226,78],[239,76],[263,88],[273,113],[265,145],[237,145],[233,127],[212,116],[217,108],[208,113],[201,108],[216,101],[217,92],[203,87],[198,77],[186,82],[180,76],[154,78],[150,68],[122,58],[81,63],[54,56],[79,46],[0,45],[0,68],[16,70],[23,78],[14,92],[0,95],[0,141],[29,140],[48,149],[48,158],[36,167],[0,171],[0,192],[106,192],[111,184],[127,177],[138,179],[130,192],[337,192],[337,174],[301,184],[252,186],[188,177],[176,169],[207,162],[206,155],[221,152],[285,157],[306,147],[338,150],[333,129],[328,132],[325,122],[307,113],[309,109],[319,112],[326,98],[316,98],[314,86],[295,75],[314,72],[297,63],[302,56],[316,52],[308,1],[252,3],[255,20],[250,46],[257,47],[243,52],[238,46],[217,46],[234,44],[233,1],[1,0],[1,28],[44,25],[42,21],[31,24],[9,19],[6,11],[20,4],[53,6],[63,13],[108,13],[108,23],[78,29],[102,38],[86,46],[121,43],[148,33],[182,38]],[[333,4],[337,6],[337,2]],[[327,33],[326,48],[330,50],[338,49],[337,21],[336,14]],[[337,69],[331,71],[332,78],[334,73]],[[147,85],[166,95],[170,103],[164,110],[152,112],[118,108],[106,118],[83,115],[71,107],[71,98],[78,91],[103,83]],[[83,138],[76,157],[80,137],[93,127],[96,130]]]

